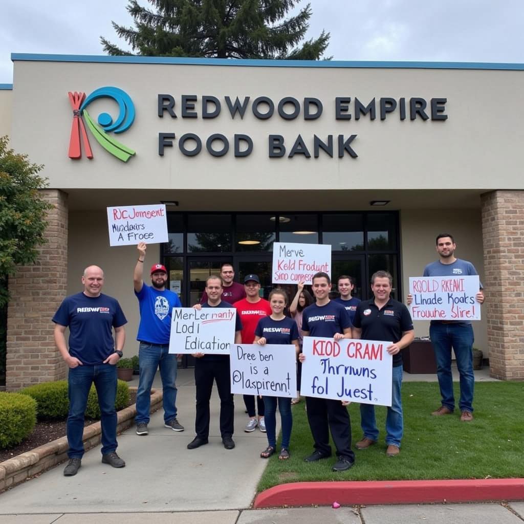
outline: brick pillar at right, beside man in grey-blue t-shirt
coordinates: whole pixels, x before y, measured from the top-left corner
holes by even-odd
[[[524,191],[482,195],[489,367],[493,377],[524,378]]]

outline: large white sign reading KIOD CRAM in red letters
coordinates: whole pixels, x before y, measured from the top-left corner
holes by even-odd
[[[390,342],[305,336],[300,394],[391,406]]]

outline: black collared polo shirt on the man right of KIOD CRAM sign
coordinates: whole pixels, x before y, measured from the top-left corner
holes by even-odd
[[[362,330],[363,340],[398,342],[402,333],[413,329],[408,308],[398,300],[390,298],[378,309],[374,299],[365,300],[357,306],[353,325]],[[402,365],[402,352],[393,355],[393,367]]]

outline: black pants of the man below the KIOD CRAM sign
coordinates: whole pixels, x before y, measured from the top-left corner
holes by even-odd
[[[347,408],[340,400],[306,397],[308,422],[313,435],[314,448],[325,455],[331,455],[329,431],[336,447],[336,455],[354,462],[351,450],[351,421]]]

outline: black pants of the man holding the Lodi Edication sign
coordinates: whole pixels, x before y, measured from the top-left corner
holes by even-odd
[[[209,401],[213,389],[213,380],[220,397],[220,434],[222,438],[233,435],[235,405],[231,394],[230,361],[226,357],[223,361],[195,361],[196,387],[196,436],[207,439],[209,436]]]

